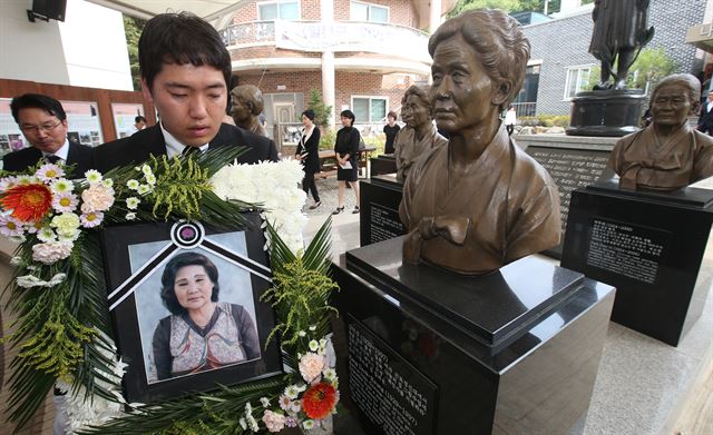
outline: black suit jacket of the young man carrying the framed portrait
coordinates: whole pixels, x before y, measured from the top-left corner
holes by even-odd
[[[218,134],[208,144],[208,148],[224,146],[250,148],[238,158],[242,164],[256,164],[262,160],[277,161],[277,149],[272,139],[227,123],[221,126]],[[164,155],[166,155],[166,140],[160,127],[155,125],[131,136],[97,147],[94,154],[94,164],[97,170],[104,174],[120,166],[144,162],[150,156]]]

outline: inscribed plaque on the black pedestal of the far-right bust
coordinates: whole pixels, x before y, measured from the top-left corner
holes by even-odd
[[[670,233],[593,218],[587,265],[654,284]]]

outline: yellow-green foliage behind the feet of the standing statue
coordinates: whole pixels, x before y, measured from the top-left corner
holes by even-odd
[[[617,66],[614,66],[616,70]],[[636,61],[628,69],[626,76],[626,86],[629,89],[653,88],[658,80],[674,73],[678,69],[678,65],[666,53],[663,48],[645,48],[636,58]],[[593,89],[599,81],[602,68],[594,67],[589,73],[588,89]]]

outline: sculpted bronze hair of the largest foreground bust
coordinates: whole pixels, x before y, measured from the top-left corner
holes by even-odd
[[[516,19],[499,9],[468,10],[443,22],[428,41],[433,57],[436,47],[456,34],[476,50],[488,77],[500,87],[509,85],[500,110],[517,97],[525,81],[530,43]]]

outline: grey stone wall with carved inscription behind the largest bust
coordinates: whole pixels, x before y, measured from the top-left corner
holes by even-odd
[[[609,151],[529,146],[526,152],[547,169],[559,188],[559,212],[564,236],[572,191],[599,179],[609,160]]]

